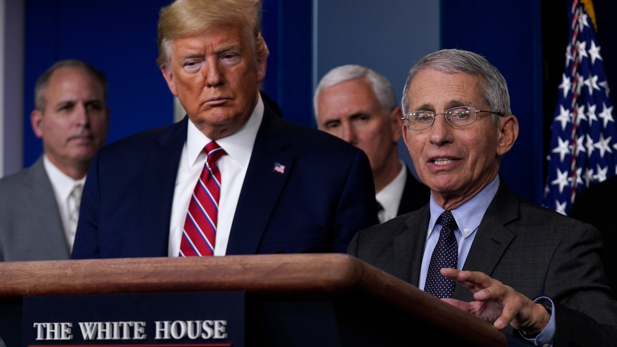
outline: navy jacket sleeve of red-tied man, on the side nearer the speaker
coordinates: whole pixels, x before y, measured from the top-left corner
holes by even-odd
[[[378,224],[375,184],[368,158],[357,151],[334,220],[333,252],[346,253],[354,235]]]

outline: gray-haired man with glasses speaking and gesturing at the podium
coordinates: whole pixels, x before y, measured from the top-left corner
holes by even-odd
[[[472,52],[434,52],[410,70],[402,106],[431,199],[359,232],[348,252],[537,346],[615,345],[597,230],[499,180],[518,136],[501,73]]]

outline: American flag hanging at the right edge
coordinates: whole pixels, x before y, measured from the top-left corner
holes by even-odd
[[[576,193],[617,172],[617,127],[591,0],[568,0],[569,44],[550,140],[544,205],[567,215]]]

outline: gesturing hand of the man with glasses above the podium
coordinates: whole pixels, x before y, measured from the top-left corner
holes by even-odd
[[[450,298],[442,300],[492,323],[495,328],[501,330],[510,324],[525,333],[539,333],[549,324],[550,314],[544,306],[482,272],[444,268],[441,274],[463,285],[476,299],[471,303]]]

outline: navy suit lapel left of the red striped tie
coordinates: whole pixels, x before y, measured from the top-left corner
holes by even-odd
[[[159,136],[158,151],[147,159],[141,201],[141,256],[167,256],[173,191],[188,128],[188,117]]]

